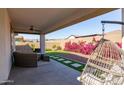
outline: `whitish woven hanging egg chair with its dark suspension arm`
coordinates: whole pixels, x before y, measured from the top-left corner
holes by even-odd
[[[124,25],[124,23],[119,21],[101,21],[101,23],[102,39],[77,79],[83,85],[124,84],[124,52],[112,41],[104,39],[105,24]]]

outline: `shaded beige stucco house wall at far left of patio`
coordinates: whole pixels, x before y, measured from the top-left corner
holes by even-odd
[[[10,20],[7,9],[0,9],[0,83],[8,79],[11,69]]]

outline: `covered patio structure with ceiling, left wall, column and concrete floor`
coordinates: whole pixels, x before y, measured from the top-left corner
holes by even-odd
[[[46,34],[113,10],[115,9],[0,9],[0,83],[14,80],[12,84],[17,85],[79,85],[76,78],[80,72],[51,59],[50,62],[39,61],[36,68],[12,68],[12,54],[16,51],[14,34],[39,34],[40,53],[44,55]],[[124,9],[122,14],[124,20]],[[122,32],[123,29],[124,27]]]

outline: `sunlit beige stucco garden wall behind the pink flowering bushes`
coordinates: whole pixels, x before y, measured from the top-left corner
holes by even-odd
[[[124,15],[124,13],[123,13]],[[124,17],[123,17],[124,20]],[[123,36],[124,36],[124,26],[123,26]],[[102,36],[95,36],[96,40],[100,40]],[[104,36],[105,39],[111,40],[113,42],[121,42],[122,39],[122,31],[121,30],[115,30],[112,32],[108,32]],[[53,45],[61,46],[62,49],[64,49],[65,43],[66,42],[76,42],[78,43],[79,41],[86,41],[92,42],[93,37],[80,37],[80,38],[69,38],[69,39],[63,39],[63,40],[49,40],[46,41],[46,48],[51,49]],[[124,38],[123,38],[124,42]],[[124,44],[123,44],[124,47]]]

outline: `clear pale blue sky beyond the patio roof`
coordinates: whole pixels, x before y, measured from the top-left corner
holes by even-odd
[[[46,35],[46,39],[62,39],[70,35],[88,35],[88,34],[100,34],[102,33],[101,20],[110,21],[121,21],[121,9],[114,10],[112,12],[106,13],[104,15],[80,22],[78,24],[57,30],[55,32]],[[120,25],[106,24],[105,32],[110,32],[113,30],[121,29]],[[23,35],[27,39],[39,39],[37,35]]]

